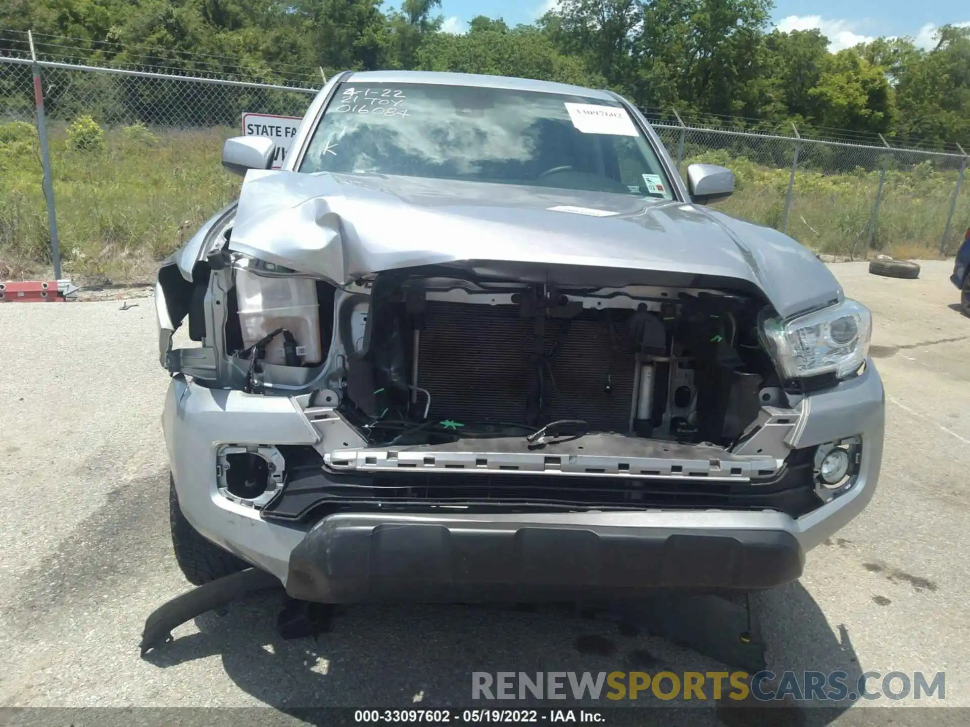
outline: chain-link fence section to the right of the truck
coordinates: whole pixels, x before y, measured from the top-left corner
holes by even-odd
[[[721,164],[735,175],[729,214],[821,253],[866,258],[953,254],[970,228],[962,153],[654,123],[681,174]]]

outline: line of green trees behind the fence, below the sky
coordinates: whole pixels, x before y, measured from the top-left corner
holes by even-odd
[[[0,27],[33,29],[49,44],[42,50],[56,55],[60,44],[62,56],[94,64],[302,83],[318,83],[318,67],[328,76],[525,76],[608,87],[641,107],[695,117],[744,116],[749,127],[794,120],[970,145],[970,28],[944,26],[929,50],[880,38],[832,54],[818,30],[771,29],[771,0],[562,0],[531,25],[474,17],[460,36],[441,32],[439,8],[440,0],[400,0],[386,12],[381,0],[5,0]],[[0,41],[0,52],[22,51],[15,47]],[[51,85],[54,115],[195,123],[237,112],[217,94],[187,108],[172,84],[84,76]],[[272,106],[241,92],[233,103],[243,102]]]

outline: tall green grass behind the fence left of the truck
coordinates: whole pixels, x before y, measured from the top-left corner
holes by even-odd
[[[108,131],[98,148],[50,138],[63,269],[79,279],[128,280],[154,264],[239,193],[219,163],[228,128],[155,135]],[[33,142],[0,147],[0,263],[16,273],[49,265],[42,168]]]

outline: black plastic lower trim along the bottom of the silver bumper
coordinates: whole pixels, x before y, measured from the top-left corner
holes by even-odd
[[[323,603],[598,600],[797,579],[784,530],[334,515],[290,556],[286,590]]]

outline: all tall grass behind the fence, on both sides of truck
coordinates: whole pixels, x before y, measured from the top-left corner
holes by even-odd
[[[85,133],[89,133],[86,130]],[[239,193],[240,177],[219,164],[223,140],[235,129],[150,132],[106,130],[100,142],[72,143],[51,131],[54,198],[63,269],[79,280],[146,277],[215,210]],[[693,162],[723,164],[736,192],[719,208],[781,229],[788,169],[766,167],[725,149],[693,150]],[[699,153],[697,153],[699,151]],[[935,257],[950,209],[956,173],[931,164],[890,171],[877,224],[870,224],[879,172],[795,174],[787,232],[817,252]],[[958,200],[948,252],[970,227],[970,180]],[[36,131],[0,124],[0,278],[49,266],[47,207]]]

